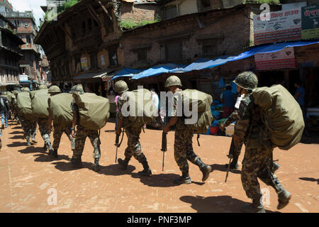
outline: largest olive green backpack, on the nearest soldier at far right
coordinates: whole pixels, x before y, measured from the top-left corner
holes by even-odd
[[[305,123],[301,108],[283,86],[259,87],[252,91],[254,104],[261,109],[262,121],[271,132],[272,143],[289,150],[299,143]]]

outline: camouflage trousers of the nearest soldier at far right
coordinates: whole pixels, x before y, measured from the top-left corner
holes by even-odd
[[[272,169],[273,148],[249,148],[245,149],[245,157],[242,160],[242,187],[248,198],[262,196],[257,177],[265,184],[274,187],[274,179],[277,179],[270,170]],[[272,179],[273,178],[273,179]]]

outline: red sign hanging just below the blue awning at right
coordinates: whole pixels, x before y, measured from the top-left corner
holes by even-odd
[[[257,70],[284,69],[295,67],[293,48],[284,48],[277,52],[265,52],[254,55]]]

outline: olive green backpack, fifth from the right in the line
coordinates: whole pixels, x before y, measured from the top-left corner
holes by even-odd
[[[71,102],[73,101],[72,94],[61,93],[50,96],[47,99],[49,106],[49,114],[52,116],[55,126],[64,128],[72,125],[73,113],[71,109]]]

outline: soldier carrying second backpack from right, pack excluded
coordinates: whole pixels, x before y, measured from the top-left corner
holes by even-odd
[[[172,111],[172,118],[169,120],[167,126],[164,127],[165,133],[170,131],[170,127],[176,124],[175,140],[174,140],[174,157],[179,170],[181,170],[181,177],[174,180],[175,184],[191,184],[191,177],[189,177],[189,164],[197,165],[203,173],[202,181],[205,182],[211,173],[211,166],[206,165],[201,161],[201,158],[194,153],[192,138],[193,131],[189,131],[182,116],[177,116],[179,106],[177,105],[178,97],[177,92],[181,92],[181,80],[177,76],[167,78],[165,87],[169,89],[174,95],[174,109]]]

